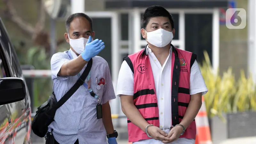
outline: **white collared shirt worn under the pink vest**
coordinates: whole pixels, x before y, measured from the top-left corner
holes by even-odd
[[[160,62],[157,60],[155,54],[147,46],[146,52],[149,56],[150,65],[152,68],[155,87],[156,87],[156,97],[157,105],[159,109],[159,124],[160,128],[167,128],[172,125],[172,107],[171,107],[171,64],[172,64],[172,47],[170,48],[169,55],[164,62],[164,65],[161,66]],[[125,82],[125,84],[123,84]],[[116,95],[133,95],[133,73],[131,68],[128,66],[127,62],[124,60],[120,68]],[[190,95],[202,92],[204,95],[208,92],[207,87],[204,83],[204,78],[201,74],[199,65],[195,60],[194,64],[191,67],[190,71]],[[166,133],[169,133],[170,130],[165,130]],[[193,144],[195,140],[181,138],[172,144]],[[140,140],[134,142],[134,144],[163,144],[160,140]]]

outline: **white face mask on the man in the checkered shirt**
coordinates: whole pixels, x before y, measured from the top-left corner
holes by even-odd
[[[84,52],[85,44],[88,41],[87,38],[81,37],[78,39],[71,39],[69,35],[68,38],[70,46],[76,51],[76,53],[81,54],[82,52]]]

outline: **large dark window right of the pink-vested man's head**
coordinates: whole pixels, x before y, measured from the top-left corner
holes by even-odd
[[[212,14],[185,14],[186,51],[197,54],[198,63],[207,51],[212,62]]]

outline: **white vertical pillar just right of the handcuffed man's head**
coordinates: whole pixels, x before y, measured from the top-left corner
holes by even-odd
[[[185,12],[183,10],[179,13],[179,41],[179,48],[185,50]]]

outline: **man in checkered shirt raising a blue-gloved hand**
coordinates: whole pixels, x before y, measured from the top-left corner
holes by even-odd
[[[66,28],[64,36],[70,49],[51,59],[56,99],[60,100],[76,83],[90,59],[92,68],[85,83],[57,109],[48,132],[52,132],[54,144],[107,144],[106,136],[108,144],[117,144],[108,102],[116,98],[110,70],[107,61],[96,56],[104,49],[104,42],[94,40],[92,19],[84,13],[70,15]],[[96,95],[92,96],[92,91]],[[97,105],[102,105],[102,117]]]

